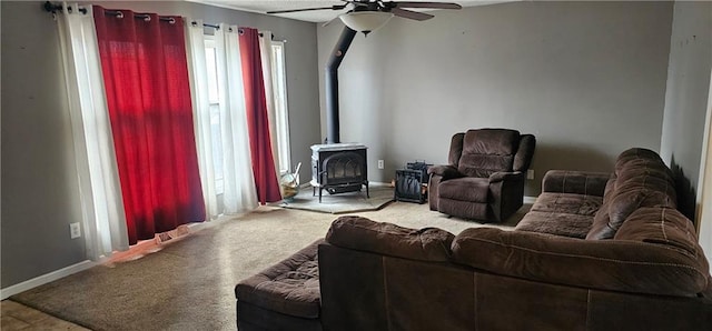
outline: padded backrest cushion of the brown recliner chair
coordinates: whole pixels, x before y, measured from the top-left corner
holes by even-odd
[[[468,130],[457,170],[467,177],[490,177],[497,171],[512,171],[520,147],[520,132],[510,129]]]

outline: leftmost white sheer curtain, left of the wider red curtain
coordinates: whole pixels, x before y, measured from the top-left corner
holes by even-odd
[[[91,7],[62,3],[57,13],[87,257],[128,250],[126,215]],[[73,10],[69,12],[68,7]]]

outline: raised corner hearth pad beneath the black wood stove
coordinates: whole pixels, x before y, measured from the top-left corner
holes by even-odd
[[[318,189],[315,194],[312,187],[307,187],[300,189],[294,198],[275,205],[335,214],[374,211],[393,201],[393,190],[392,187],[383,183],[370,183],[368,185],[368,197],[366,197],[366,189],[360,192],[339,194],[329,194],[326,190],[323,190],[322,202],[319,202]]]

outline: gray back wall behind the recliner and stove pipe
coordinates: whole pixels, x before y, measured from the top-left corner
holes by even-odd
[[[409,160],[446,162],[453,133],[484,127],[536,136],[526,195],[550,169],[610,171],[627,148],[660,149],[672,6],[527,1],[394,18],[357,36],[340,67],[342,141],[369,147],[372,181]],[[317,28],[320,64],[342,29]]]

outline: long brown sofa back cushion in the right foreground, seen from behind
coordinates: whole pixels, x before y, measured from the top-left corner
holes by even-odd
[[[453,261],[497,274],[610,291],[692,297],[706,265],[669,244],[580,240],[474,228],[453,241]]]

